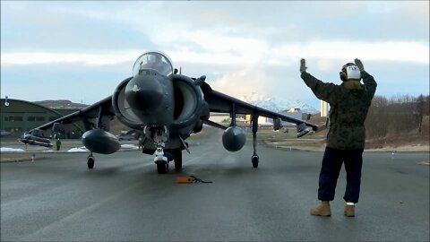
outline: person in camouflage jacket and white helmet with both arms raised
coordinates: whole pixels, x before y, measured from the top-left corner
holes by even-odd
[[[360,194],[361,168],[366,141],[365,120],[370,107],[376,82],[366,73],[359,59],[342,66],[342,83],[322,82],[306,72],[305,59],[300,60],[300,73],[305,84],[318,99],[330,103],[330,126],[327,145],[320,171],[318,200],[321,204],[311,209],[312,215],[331,216],[330,201],[334,199],[337,180],[345,164],[347,187],[343,199],[344,214],[355,216],[355,204]],[[363,79],[364,84],[360,82]]]

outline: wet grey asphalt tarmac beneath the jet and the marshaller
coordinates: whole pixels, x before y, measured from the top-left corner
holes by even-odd
[[[1,240],[429,241],[428,152],[366,152],[357,216],[343,215],[342,170],[331,217],[315,217],[322,152],[261,145],[253,169],[252,143],[231,153],[220,134],[193,138],[165,175],[139,151],[96,155],[93,170],[85,153],[2,163]]]

